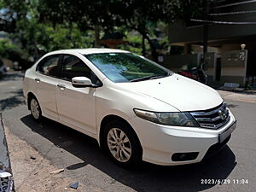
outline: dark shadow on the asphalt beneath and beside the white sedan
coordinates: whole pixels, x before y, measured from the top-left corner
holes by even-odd
[[[236,167],[236,156],[226,146],[211,159],[188,166],[155,166],[143,163],[133,170],[125,170],[113,164],[98,147],[96,140],[74,131],[50,119],[37,124],[31,115],[20,119],[29,129],[75,155],[83,163],[67,166],[67,170],[83,168],[90,164],[105,172],[114,182],[137,191],[199,191],[210,189],[217,183],[201,183],[201,179],[224,179]]]

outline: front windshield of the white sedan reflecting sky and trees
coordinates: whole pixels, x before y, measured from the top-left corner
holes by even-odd
[[[153,61],[131,53],[99,53],[84,56],[115,83],[158,79],[171,74]]]

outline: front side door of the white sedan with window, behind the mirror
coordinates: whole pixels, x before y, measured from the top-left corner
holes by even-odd
[[[56,88],[56,103],[59,118],[70,124],[96,134],[96,89],[75,88],[73,77],[84,76],[92,80],[89,67],[75,55],[63,55],[61,79]]]

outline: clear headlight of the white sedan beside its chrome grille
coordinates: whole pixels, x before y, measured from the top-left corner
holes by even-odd
[[[134,109],[138,117],[161,125],[195,126],[199,127],[196,120],[189,113],[182,112],[150,112]]]

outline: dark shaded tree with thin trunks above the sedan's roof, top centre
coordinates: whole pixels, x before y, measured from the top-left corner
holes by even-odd
[[[41,0],[41,20],[56,23],[76,23],[80,30],[96,29],[105,33],[114,32],[120,26],[128,31],[136,30],[142,36],[143,55],[145,39],[155,55],[154,43],[149,29],[159,21],[170,23],[177,18],[188,19],[197,13],[202,0]],[[97,39],[95,39],[97,41]]]

